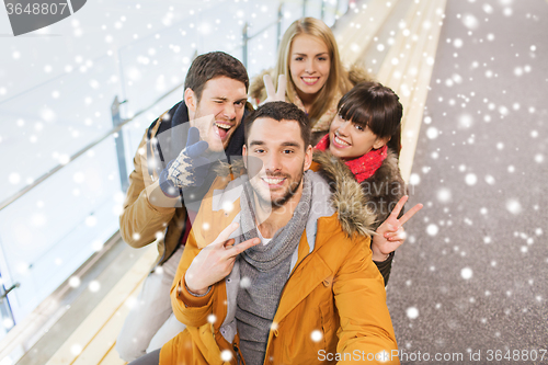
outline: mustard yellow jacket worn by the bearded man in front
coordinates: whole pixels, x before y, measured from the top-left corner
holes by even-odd
[[[191,295],[184,283],[198,252],[238,219],[239,180],[218,178],[210,190],[216,194],[202,203],[171,289],[173,312],[187,327],[161,349],[161,365],[241,363],[235,319],[238,261],[204,297]],[[313,173],[313,208],[274,317],[264,364],[375,364],[381,356],[388,358],[384,364],[399,364],[390,358],[398,346],[369,237],[343,230],[355,227],[349,219],[359,217],[347,212],[342,217],[332,207],[334,199],[346,197],[330,201],[327,182]]]

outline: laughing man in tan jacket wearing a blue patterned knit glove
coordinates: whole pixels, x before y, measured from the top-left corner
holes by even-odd
[[[216,176],[212,166],[241,155],[248,85],[246,68],[232,56],[196,57],[183,101],[150,125],[137,149],[119,231],[134,248],[156,241],[159,255],[116,341],[125,361],[160,349],[184,329],[169,290],[193,210]]]

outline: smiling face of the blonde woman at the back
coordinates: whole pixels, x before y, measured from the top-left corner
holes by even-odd
[[[297,94],[304,101],[313,99],[329,78],[328,46],[318,37],[299,34],[293,39],[289,57],[289,72]]]

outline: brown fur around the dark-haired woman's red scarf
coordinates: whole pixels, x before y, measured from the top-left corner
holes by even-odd
[[[334,204],[352,202],[352,205],[359,205],[363,215],[366,215],[362,221],[367,221],[366,227],[369,232],[374,232],[386,220],[398,201],[406,194],[406,183],[400,174],[398,158],[391,150],[388,150],[387,158],[373,176],[362,183],[356,181],[344,161],[329,151],[316,150],[313,161],[315,170],[329,182],[333,191]]]

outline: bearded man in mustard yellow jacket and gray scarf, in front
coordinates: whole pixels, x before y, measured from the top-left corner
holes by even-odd
[[[340,215],[333,206],[352,196],[331,196],[307,171],[308,117],[273,102],[244,127],[246,169],[214,182],[175,274],[173,312],[186,329],[132,365],[398,364],[383,277],[358,233],[369,217]]]

